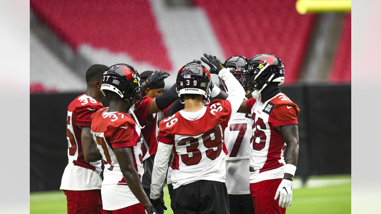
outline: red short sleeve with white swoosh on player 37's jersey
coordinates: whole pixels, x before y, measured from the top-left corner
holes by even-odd
[[[135,131],[135,124],[130,121],[107,126],[106,135],[110,138],[112,148],[136,146],[139,141],[139,135]]]

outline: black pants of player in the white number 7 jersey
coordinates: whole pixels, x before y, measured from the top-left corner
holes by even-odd
[[[254,205],[250,194],[229,194],[229,207],[230,214],[254,214]]]

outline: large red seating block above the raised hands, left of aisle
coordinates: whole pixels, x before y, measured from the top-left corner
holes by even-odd
[[[274,54],[285,63],[285,84],[298,80],[314,16],[298,14],[295,1],[273,0],[273,6],[267,0],[194,3],[208,14],[226,56]],[[276,18],[270,19],[274,14]]]

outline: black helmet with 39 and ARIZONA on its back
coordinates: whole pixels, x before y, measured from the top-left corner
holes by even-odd
[[[176,77],[176,91],[183,99],[183,94],[201,94],[208,99],[212,83],[209,70],[201,64],[200,60],[194,60],[182,66]]]

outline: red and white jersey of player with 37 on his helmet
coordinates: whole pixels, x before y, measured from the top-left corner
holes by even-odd
[[[91,123],[91,134],[101,152],[104,163],[102,182],[103,209],[115,210],[139,203],[133,195],[129,184],[120,171],[114,149],[128,147],[134,159],[134,166],[140,180],[144,173],[142,158],[141,130],[127,113],[108,112],[108,108],[94,113]]]

